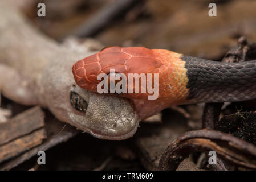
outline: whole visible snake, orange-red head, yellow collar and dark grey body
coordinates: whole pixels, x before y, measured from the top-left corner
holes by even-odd
[[[157,100],[148,100],[148,93],[119,94],[133,101],[141,119],[171,105],[256,98],[256,60],[221,63],[165,49],[108,47],[79,60],[72,72],[76,84],[97,92],[97,76],[109,74],[110,69],[125,75],[159,73]]]

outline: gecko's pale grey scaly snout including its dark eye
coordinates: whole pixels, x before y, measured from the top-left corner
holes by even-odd
[[[92,93],[75,85],[70,90],[73,107],[69,117],[79,129],[100,139],[123,140],[132,137],[139,118],[126,98]]]

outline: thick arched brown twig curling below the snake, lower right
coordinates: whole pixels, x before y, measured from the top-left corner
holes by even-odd
[[[191,151],[216,151],[237,166],[256,169],[256,147],[233,135],[214,130],[189,131],[174,140],[162,154],[158,170],[175,170]]]

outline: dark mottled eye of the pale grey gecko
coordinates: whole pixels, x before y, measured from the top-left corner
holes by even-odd
[[[73,91],[70,92],[70,103],[74,109],[78,110],[79,112],[86,113],[88,104],[81,96],[79,96],[78,93]]]

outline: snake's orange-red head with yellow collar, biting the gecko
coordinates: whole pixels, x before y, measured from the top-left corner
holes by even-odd
[[[170,104],[180,104],[186,99],[188,94],[186,69],[184,68],[185,61],[180,59],[181,56],[181,54],[164,49],[108,47],[95,55],[79,60],[74,64],[72,72],[76,84],[92,92],[99,90],[97,86],[100,86],[101,80],[97,80],[97,76],[101,73],[105,73],[109,77],[111,69],[114,69],[115,73],[124,74],[127,92],[121,92],[118,96],[131,99],[140,119],[144,119]],[[135,76],[136,73],[137,76]],[[143,75],[141,73],[146,75],[145,80],[151,79],[151,88],[157,88],[157,100],[149,100],[149,95],[152,95],[152,92],[148,92],[148,82],[147,89],[145,89],[145,85],[143,86],[141,80],[144,78],[140,77]],[[132,80],[129,79],[129,75],[133,75]],[[155,75],[159,80],[155,81]],[[133,82],[135,78],[137,80],[141,78],[138,81],[139,84],[135,85]],[[139,93],[135,93],[134,91],[138,87]],[[130,88],[132,92],[128,92]],[[142,88],[146,92],[141,92]]]

